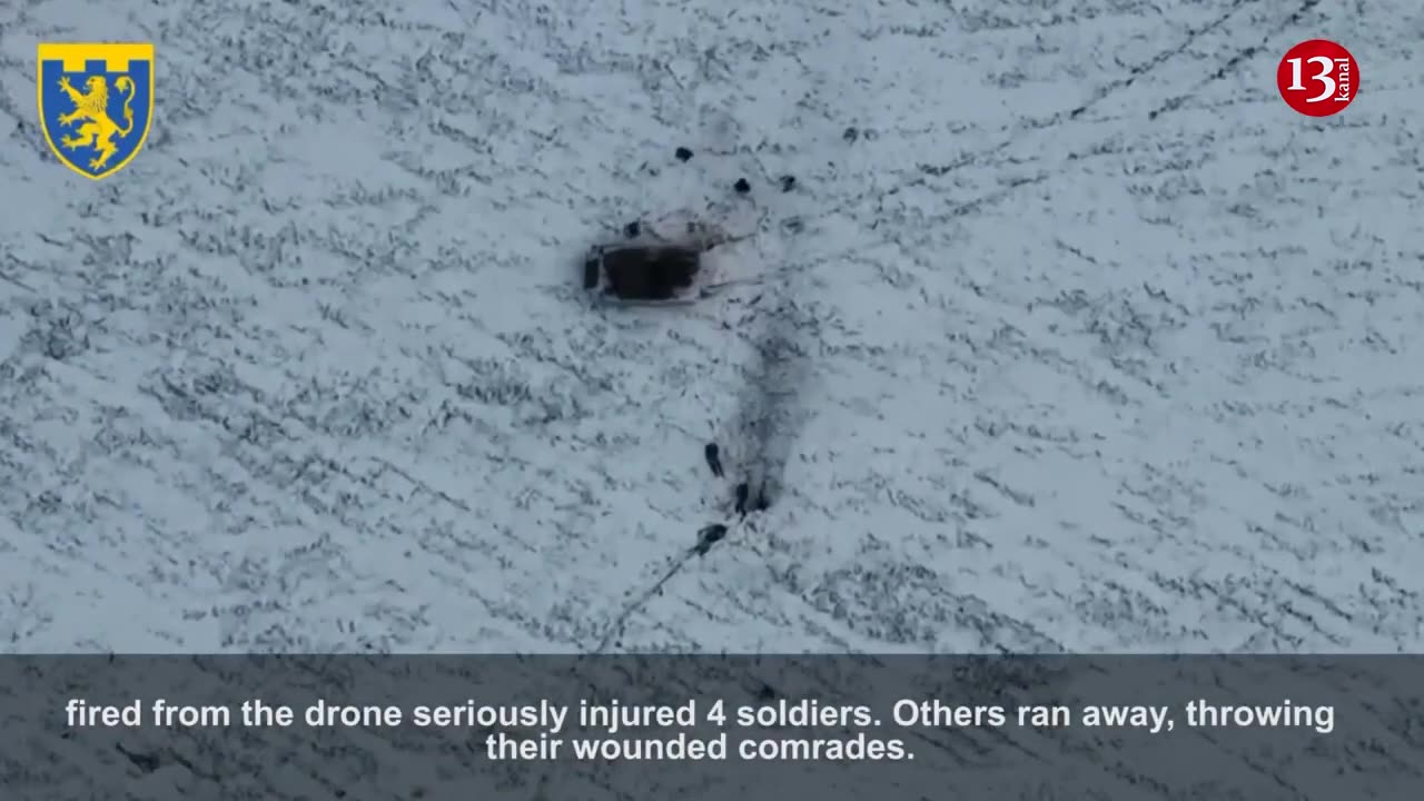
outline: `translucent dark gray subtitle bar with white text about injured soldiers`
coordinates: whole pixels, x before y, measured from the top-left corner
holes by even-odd
[[[1424,657],[0,657],[0,797],[1403,801],[1424,790],[1421,676]]]

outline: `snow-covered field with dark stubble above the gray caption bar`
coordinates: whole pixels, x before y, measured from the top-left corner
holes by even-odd
[[[0,641],[1418,651],[1421,33],[1411,0],[7,1]],[[1326,120],[1274,87],[1316,37],[1361,70]],[[84,40],[158,53],[103,182],[34,108],[36,43]],[[745,281],[591,305],[632,221]],[[736,523],[753,467],[782,489]]]

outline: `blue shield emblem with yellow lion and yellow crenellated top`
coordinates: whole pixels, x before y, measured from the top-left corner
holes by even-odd
[[[50,150],[85,178],[138,155],[154,121],[152,44],[40,44],[40,127]]]

